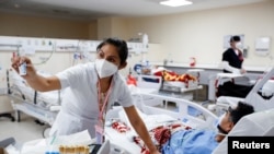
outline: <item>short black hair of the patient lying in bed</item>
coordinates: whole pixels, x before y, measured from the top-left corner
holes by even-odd
[[[239,102],[237,107],[229,110],[230,119],[236,125],[242,117],[254,112],[252,105],[244,102]]]

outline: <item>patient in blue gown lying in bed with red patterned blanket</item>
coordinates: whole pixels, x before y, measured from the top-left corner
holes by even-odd
[[[229,108],[219,118],[217,130],[167,126],[151,130],[150,134],[162,154],[212,154],[233,126],[243,116],[252,112],[254,112],[253,106],[239,102],[235,108]],[[135,141],[141,144],[137,139]]]

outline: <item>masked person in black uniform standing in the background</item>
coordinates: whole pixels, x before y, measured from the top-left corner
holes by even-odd
[[[229,43],[230,43],[230,48],[224,51],[221,58],[222,71],[225,73],[236,73],[236,74],[247,73],[246,69],[243,69],[242,67],[243,55],[240,49],[242,47],[240,36],[232,36]],[[233,82],[226,82],[222,85],[218,86],[217,97],[233,96],[233,97],[244,98],[252,87],[253,85],[237,85]]]

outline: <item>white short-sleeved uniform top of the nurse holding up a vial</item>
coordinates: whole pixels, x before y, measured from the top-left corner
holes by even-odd
[[[94,125],[99,117],[98,74],[93,62],[78,64],[56,74],[61,88],[66,88],[61,109],[52,127],[50,135],[57,131],[58,135],[67,135],[89,130],[91,138],[95,137]],[[114,102],[123,107],[133,106],[130,92],[125,80],[115,73],[112,93],[109,97],[107,110]]]

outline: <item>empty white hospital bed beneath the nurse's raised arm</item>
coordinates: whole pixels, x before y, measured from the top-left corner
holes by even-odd
[[[50,75],[44,71],[37,71],[43,76]],[[12,107],[15,110],[15,119],[21,121],[21,112],[36,118],[36,122],[48,125],[44,132],[53,125],[57,112],[60,109],[62,91],[37,92],[14,70],[7,74],[9,81],[8,95],[11,97]],[[43,135],[45,137],[45,133]]]

